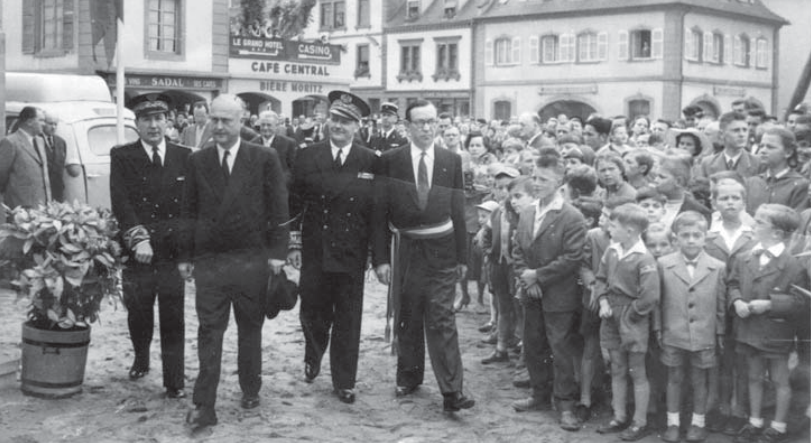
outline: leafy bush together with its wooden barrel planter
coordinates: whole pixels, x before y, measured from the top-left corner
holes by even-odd
[[[8,208],[6,208],[8,209]],[[43,397],[81,392],[90,323],[102,301],[121,296],[118,227],[108,210],[51,202],[8,211],[0,225],[0,264],[18,300],[30,302],[23,324],[21,388]]]

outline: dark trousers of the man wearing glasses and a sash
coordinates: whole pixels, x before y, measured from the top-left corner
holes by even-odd
[[[397,385],[422,384],[425,372],[425,344],[439,390],[443,394],[462,392],[462,356],[453,299],[456,269],[432,269],[426,260],[412,255],[400,298],[397,336]]]

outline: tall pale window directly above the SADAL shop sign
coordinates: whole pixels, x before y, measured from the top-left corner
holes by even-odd
[[[171,58],[182,54],[181,0],[149,0],[146,14],[147,55]]]

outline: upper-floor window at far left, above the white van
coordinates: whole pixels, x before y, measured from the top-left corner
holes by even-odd
[[[74,0],[22,3],[23,54],[52,57],[73,50]]]

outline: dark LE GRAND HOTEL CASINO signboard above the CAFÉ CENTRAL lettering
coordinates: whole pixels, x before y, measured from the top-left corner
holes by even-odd
[[[321,42],[232,35],[230,49],[235,58],[341,64],[341,46]]]

